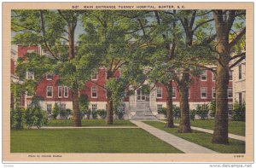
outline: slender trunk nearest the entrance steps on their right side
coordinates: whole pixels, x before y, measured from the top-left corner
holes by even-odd
[[[172,113],[172,80],[166,85],[166,95],[167,95],[167,122],[166,128],[173,128],[173,113]]]

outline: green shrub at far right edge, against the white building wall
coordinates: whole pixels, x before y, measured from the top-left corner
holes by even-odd
[[[239,104],[237,101],[235,101],[233,106],[233,114],[232,119],[235,121],[245,121],[246,117],[246,105],[243,102],[242,104]]]

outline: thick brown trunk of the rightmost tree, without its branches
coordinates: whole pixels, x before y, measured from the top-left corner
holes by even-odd
[[[227,90],[229,87],[229,61],[230,61],[230,46],[229,33],[230,28],[223,20],[223,11],[217,10],[213,12],[215,20],[217,42],[218,42],[218,64],[216,76],[216,114],[215,126],[212,136],[213,143],[226,144],[229,143],[229,117],[228,117],[228,96]]]

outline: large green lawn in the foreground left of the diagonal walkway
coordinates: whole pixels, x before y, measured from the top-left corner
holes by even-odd
[[[142,129],[11,130],[11,153],[182,153]]]

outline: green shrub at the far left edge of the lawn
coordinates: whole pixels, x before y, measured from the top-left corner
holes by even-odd
[[[25,128],[25,109],[19,107],[16,110],[13,110],[12,113],[11,116],[13,119],[11,119],[11,129],[23,130]]]

